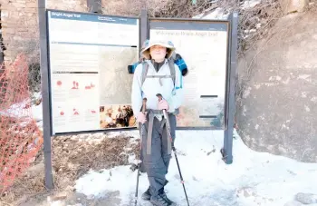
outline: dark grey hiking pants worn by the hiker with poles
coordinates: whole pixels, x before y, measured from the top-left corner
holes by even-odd
[[[170,123],[170,134],[173,142],[175,142],[175,130],[176,130],[176,116],[174,114],[168,114]],[[171,153],[168,154],[168,133],[167,125],[162,121],[154,117],[152,140],[151,140],[151,152],[147,153],[147,138],[149,130],[149,114],[147,116],[147,122],[144,123],[144,131],[142,136],[142,148],[141,148],[141,161],[142,167],[148,174],[150,193],[155,196],[159,194],[159,189],[163,188],[166,184],[166,174],[168,173],[169,161]],[[139,130],[142,129],[142,125],[139,124]]]

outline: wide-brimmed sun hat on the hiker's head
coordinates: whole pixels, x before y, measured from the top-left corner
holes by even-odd
[[[150,59],[149,48],[153,45],[160,45],[167,48],[167,58],[171,57],[175,51],[175,46],[171,41],[165,40],[146,40],[142,45],[142,50],[140,52],[141,56],[145,59]]]

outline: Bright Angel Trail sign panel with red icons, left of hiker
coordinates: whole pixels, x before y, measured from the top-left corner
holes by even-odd
[[[139,19],[47,15],[53,134],[135,127],[126,68],[139,60]]]

